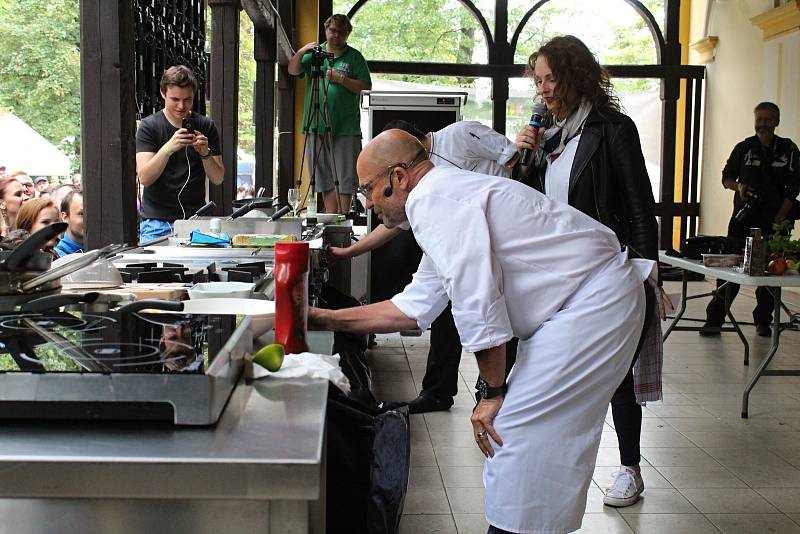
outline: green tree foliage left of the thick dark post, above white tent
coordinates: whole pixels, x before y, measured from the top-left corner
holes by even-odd
[[[0,0],[0,108],[80,165],[78,0]]]

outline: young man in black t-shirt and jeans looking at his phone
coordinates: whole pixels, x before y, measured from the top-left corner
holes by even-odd
[[[197,80],[183,65],[161,76],[164,109],[146,117],[136,131],[136,172],[144,186],[139,241],[172,233],[206,202],[206,178],[225,178],[219,134],[211,119],[192,111]],[[184,128],[184,120],[191,121]]]

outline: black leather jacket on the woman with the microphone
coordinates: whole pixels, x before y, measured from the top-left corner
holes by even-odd
[[[540,149],[521,177],[543,193],[545,158]],[[569,205],[611,228],[632,257],[658,260],[653,190],[630,117],[612,110],[589,114],[570,171]]]

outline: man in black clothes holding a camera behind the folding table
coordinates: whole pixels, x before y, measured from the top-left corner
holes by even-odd
[[[760,228],[762,235],[773,233],[772,225],[797,218],[797,195],[800,193],[800,152],[791,139],[775,135],[780,123],[780,110],[772,102],[761,102],[753,110],[756,135],[737,144],[722,170],[722,185],[736,191],[733,216],[728,223],[728,238],[744,246],[751,228]],[[717,287],[724,283],[717,280]],[[729,284],[728,305],[739,292]],[[706,323],[701,336],[718,336],[725,322],[725,292],[717,292],[706,308]],[[767,288],[756,288],[753,321],[759,336],[772,335],[772,294]]]

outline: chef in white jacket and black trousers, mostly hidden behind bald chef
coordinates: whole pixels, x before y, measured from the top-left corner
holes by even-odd
[[[384,130],[400,129],[416,137],[430,154],[437,167],[454,167],[493,176],[510,177],[519,154],[515,144],[506,136],[476,121],[458,121],[436,132],[423,133],[404,120],[389,122]],[[331,247],[330,253],[340,259],[353,258],[394,239],[401,229],[378,225],[363,239],[347,248]],[[413,244],[413,238],[409,238]],[[394,273],[395,276],[398,273]],[[402,281],[401,283],[404,283]],[[458,365],[461,361],[461,342],[458,338],[450,306],[431,324],[431,344],[422,390],[409,402],[409,413],[448,410],[458,393]]]

